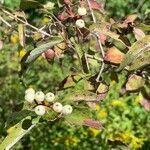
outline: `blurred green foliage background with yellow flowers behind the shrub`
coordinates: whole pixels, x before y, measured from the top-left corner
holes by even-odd
[[[17,0],[5,0],[5,5],[15,8]],[[147,22],[150,4],[148,0],[109,0],[105,1],[108,15],[120,20],[130,13],[138,13]],[[129,7],[130,6],[130,7]],[[137,10],[138,8],[138,10]],[[35,12],[34,12],[35,13]],[[43,18],[33,18],[33,22],[41,23]],[[1,27],[0,27],[1,28]],[[6,31],[5,31],[6,30]],[[7,29],[3,32],[7,33]],[[3,32],[0,31],[0,37]],[[7,38],[6,38],[7,39]],[[9,39],[8,39],[9,41]],[[17,44],[8,43],[0,51],[0,135],[2,141],[7,134],[4,122],[11,114],[18,102],[24,101],[25,88],[18,78]],[[72,66],[69,56],[65,56],[60,67],[59,62],[48,64],[40,58],[27,72],[25,82],[36,89],[45,92],[55,91],[60,81],[69,75]],[[23,138],[15,149],[150,149],[150,115],[140,105],[140,94],[119,95],[121,86],[126,80],[123,72],[119,75],[119,82],[110,82],[110,91],[104,101],[97,107],[99,119],[104,123],[101,131],[87,127],[68,127],[64,124],[41,124]],[[7,131],[9,132],[9,131]],[[117,141],[117,144],[113,141]]]

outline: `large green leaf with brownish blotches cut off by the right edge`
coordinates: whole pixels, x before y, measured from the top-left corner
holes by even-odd
[[[137,70],[145,65],[150,64],[150,35],[146,35],[141,40],[135,42],[124,59],[122,60],[117,71],[129,66],[128,70]]]

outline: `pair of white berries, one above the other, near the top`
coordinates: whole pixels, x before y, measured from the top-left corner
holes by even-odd
[[[78,8],[78,14],[79,14],[80,16],[86,15],[86,14],[87,14],[86,8],[85,8],[85,7],[79,7],[79,8]],[[78,28],[83,28],[83,27],[85,27],[85,22],[84,22],[84,20],[83,20],[83,19],[78,19],[78,20],[76,21],[76,26],[77,26]]]

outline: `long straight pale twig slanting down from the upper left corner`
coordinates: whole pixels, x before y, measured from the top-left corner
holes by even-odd
[[[34,29],[34,30],[36,30],[36,31],[38,31],[38,32],[40,32],[40,33],[46,35],[46,36],[49,36],[49,37],[51,36],[51,35],[48,34],[47,32],[38,29],[37,27],[35,27],[35,26],[29,24],[28,22],[26,22],[26,21],[24,21],[24,20],[18,18],[17,16],[11,14],[10,12],[8,12],[8,11],[6,11],[6,10],[4,10],[4,9],[2,9],[2,11],[3,11],[5,14],[9,15],[10,18],[14,18],[14,19],[20,21],[21,23],[25,24],[26,26],[29,26],[29,27],[31,27],[32,29]]]

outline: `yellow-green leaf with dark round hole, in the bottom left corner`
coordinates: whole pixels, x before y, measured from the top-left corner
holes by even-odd
[[[39,118],[36,118],[39,120]],[[12,146],[14,146],[24,135],[26,135],[35,125],[37,124],[34,123],[32,124],[27,130],[24,130],[22,128],[22,123],[25,119],[21,120],[19,123],[11,127],[11,131],[9,134],[6,136],[6,138],[3,140],[3,142],[0,144],[0,150],[4,149],[10,149]]]

